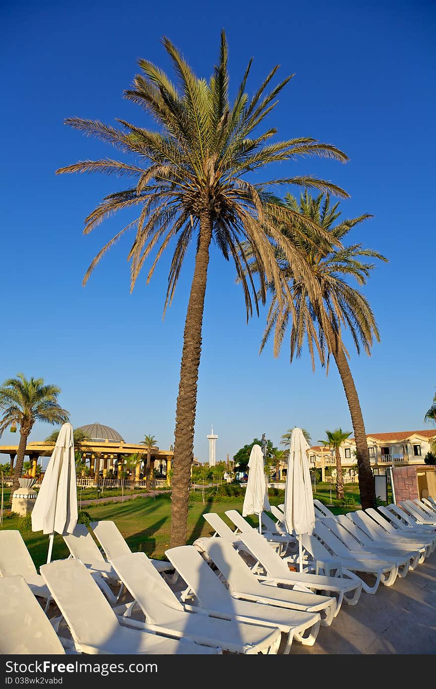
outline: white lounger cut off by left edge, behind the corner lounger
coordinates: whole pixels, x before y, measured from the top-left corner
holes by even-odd
[[[21,575],[35,596],[45,600],[45,609],[50,605],[50,591],[37,568],[19,531],[0,530],[0,577]]]

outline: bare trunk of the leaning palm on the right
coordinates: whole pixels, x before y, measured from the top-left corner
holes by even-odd
[[[344,386],[346,401],[349,404],[351,423],[353,424],[356,444],[357,473],[359,478],[360,502],[362,509],[375,506],[375,480],[368,457],[368,443],[366,442],[365,424],[360,408],[359,397],[355,388],[349,362],[346,360],[342,346],[333,351],[338,371]]]

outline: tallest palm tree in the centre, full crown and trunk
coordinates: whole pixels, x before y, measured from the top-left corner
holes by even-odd
[[[151,62],[141,59],[138,74],[125,97],[143,107],[158,124],[158,131],[118,120],[121,128],[74,117],[66,123],[88,136],[96,136],[126,154],[134,161],[81,161],[58,169],[57,174],[71,172],[99,172],[124,175],[132,179],[127,189],[109,194],[85,219],[84,234],[88,234],[112,214],[122,209],[136,209],[130,220],[99,251],[92,261],[83,282],[105,252],[129,229],[135,237],[128,258],[131,261],[131,289],[145,260],[156,250],[147,282],[165,249],[172,245],[174,253],[169,269],[167,306],[172,302],[190,245],[194,245],[194,275],[189,293],[180,381],[176,404],[174,442],[174,478],[172,482],[172,547],[185,544],[188,491],[191,462],[194,459],[194,426],[198,367],[200,364],[203,311],[207,283],[207,269],[211,243],[225,260],[234,261],[245,297],[247,318],[253,302],[258,312],[258,294],[242,249],[242,241],[249,240],[256,252],[260,269],[260,300],[267,296],[267,282],[276,283],[279,271],[272,243],[280,246],[295,272],[304,270],[304,261],[295,244],[278,232],[278,221],[299,216],[291,207],[278,203],[273,189],[279,185],[304,185],[331,190],[348,196],[340,187],[314,178],[297,176],[268,179],[263,183],[247,181],[246,174],[260,172],[268,163],[291,161],[300,155],[324,156],[345,162],[347,156],[330,144],[313,138],[293,138],[270,143],[276,134],[273,127],[259,132],[260,123],[278,102],[276,97],[291,76],[270,88],[278,70],[273,68],[260,88],[250,99],[245,88],[251,61],[245,71],[233,104],[229,102],[229,73],[227,70],[227,41],[221,34],[218,64],[209,81],[199,79],[169,39],[163,45],[176,73],[176,83]],[[258,178],[258,177],[257,177]],[[251,174],[251,180],[253,176]],[[323,230],[305,218],[302,224],[325,236]],[[308,278],[309,280],[309,278]]]

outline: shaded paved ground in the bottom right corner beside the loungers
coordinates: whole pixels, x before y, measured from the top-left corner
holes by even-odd
[[[342,604],[313,646],[293,643],[291,655],[436,654],[436,550],[393,586]]]

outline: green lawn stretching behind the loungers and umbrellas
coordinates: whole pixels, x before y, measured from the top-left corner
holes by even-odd
[[[316,488],[315,497],[318,497],[322,502],[329,502],[329,484],[320,483],[317,484]],[[203,514],[207,512],[218,513],[233,528],[233,524],[227,519],[225,511],[229,509],[242,511],[244,492],[244,489],[240,489],[240,491],[237,489],[233,490],[233,486],[231,488],[222,486],[222,489],[219,491],[211,489],[208,492],[205,491],[205,504],[203,504],[201,491],[192,494],[188,508],[187,542],[191,544],[200,536],[212,535],[209,524],[203,519]],[[230,494],[227,495],[227,493]],[[334,495],[333,491],[332,495]],[[346,485],[346,496],[349,498],[355,497],[358,500],[357,484]],[[105,495],[105,497],[108,496]],[[85,498],[82,497],[82,499],[84,500]],[[5,503],[6,500],[5,490]],[[269,501],[271,504],[276,505],[282,503],[284,501],[284,491],[270,489]],[[340,514],[353,511],[358,507],[359,504],[345,507],[335,506],[331,510],[335,514]],[[144,551],[149,557],[165,559],[165,550],[169,548],[171,524],[171,496],[169,493],[162,493],[155,497],[136,497],[132,500],[125,500],[125,502],[96,504],[95,506],[87,505],[84,509],[90,515],[91,521],[112,520],[115,522],[130,548],[132,548],[132,551]],[[247,517],[247,520],[253,526],[258,524],[258,517],[256,515],[250,515]],[[34,533],[31,530],[28,517],[10,515],[5,518],[5,515],[3,515],[2,528],[18,529],[21,532],[37,567],[46,562],[48,535],[43,535],[41,532]],[[54,536],[52,559],[62,559],[68,557],[68,555],[68,548],[63,542],[63,538],[56,534]]]

